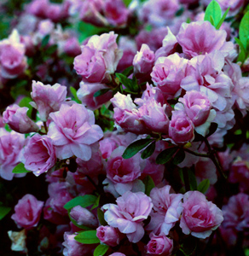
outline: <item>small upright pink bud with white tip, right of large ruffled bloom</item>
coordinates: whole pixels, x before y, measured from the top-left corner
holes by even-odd
[[[149,49],[147,44],[142,44],[133,59],[134,73],[151,73],[154,58],[153,50]]]

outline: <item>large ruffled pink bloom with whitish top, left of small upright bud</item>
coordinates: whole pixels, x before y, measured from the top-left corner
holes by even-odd
[[[74,59],[74,69],[85,82],[109,82],[116,71],[122,51],[118,49],[114,32],[92,36],[82,53]]]

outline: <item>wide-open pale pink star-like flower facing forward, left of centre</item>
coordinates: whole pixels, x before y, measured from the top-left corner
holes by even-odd
[[[81,160],[90,160],[91,145],[103,137],[101,127],[94,124],[94,113],[75,103],[71,107],[62,104],[59,111],[49,116],[53,122],[48,136],[55,145],[56,156],[67,159],[76,155]]]

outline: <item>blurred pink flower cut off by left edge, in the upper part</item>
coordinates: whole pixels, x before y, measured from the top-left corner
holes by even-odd
[[[27,67],[25,51],[13,45],[3,45],[0,54],[1,75],[4,79],[14,79]]]

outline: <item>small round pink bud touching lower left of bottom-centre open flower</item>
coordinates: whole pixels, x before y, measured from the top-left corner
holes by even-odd
[[[119,232],[110,226],[100,226],[97,228],[96,236],[101,242],[104,242],[110,247],[115,247],[119,244]]]

